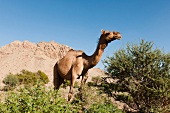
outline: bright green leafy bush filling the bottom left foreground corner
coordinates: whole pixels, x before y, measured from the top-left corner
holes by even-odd
[[[0,113],[77,113],[78,109],[42,85],[10,92],[5,101],[0,102]]]

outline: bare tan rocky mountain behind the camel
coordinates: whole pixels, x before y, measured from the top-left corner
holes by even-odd
[[[53,81],[53,66],[61,59],[71,47],[58,44],[54,41],[32,43],[29,41],[14,41],[0,48],[0,86],[2,80],[9,73],[19,73],[25,69],[36,72],[41,70],[45,72],[50,85]],[[98,76],[104,74],[100,69],[93,68],[89,76]]]

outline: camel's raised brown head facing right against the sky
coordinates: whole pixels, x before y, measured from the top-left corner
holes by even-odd
[[[110,43],[113,40],[120,40],[122,38],[121,34],[119,32],[110,32],[102,30],[101,40],[104,41],[104,43]]]

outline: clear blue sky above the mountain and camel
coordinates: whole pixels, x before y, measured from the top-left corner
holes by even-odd
[[[101,29],[123,37],[108,45],[102,59],[141,39],[170,52],[170,0],[0,0],[0,47],[54,40],[91,55]]]

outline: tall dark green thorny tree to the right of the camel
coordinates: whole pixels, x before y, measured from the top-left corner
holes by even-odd
[[[116,83],[108,83],[108,90],[126,92],[131,99],[124,101],[140,112],[166,111],[170,106],[170,54],[153,49],[152,42],[114,53],[103,61],[106,72]]]

